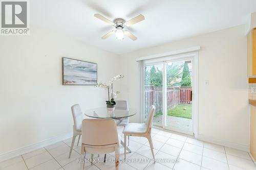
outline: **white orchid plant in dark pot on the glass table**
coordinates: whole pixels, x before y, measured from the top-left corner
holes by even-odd
[[[114,99],[116,99],[117,94],[119,94],[120,91],[113,92],[113,83],[114,83],[114,81],[119,81],[123,77],[124,77],[123,75],[117,75],[117,76],[111,78],[111,81],[109,82],[108,85],[106,83],[99,83],[95,86],[95,87],[101,87],[101,88],[108,90],[109,100],[106,101],[107,107],[114,107],[116,105],[116,102]]]

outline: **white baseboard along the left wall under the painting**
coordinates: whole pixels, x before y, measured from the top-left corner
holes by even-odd
[[[14,157],[19,156],[19,155],[26,154],[28,152],[34,151],[34,150],[42,148],[42,147],[46,147],[50,144],[59,142],[61,140],[68,139],[72,136],[73,136],[73,132],[69,132],[69,133],[62,134],[62,135],[59,135],[59,136],[56,136],[56,137],[53,137],[53,138],[35,143],[35,144],[28,145],[27,147],[19,148],[19,149],[16,149],[14,151],[10,151],[10,152],[4,153],[4,154],[0,154],[0,162],[5,161],[7,159],[14,158]]]

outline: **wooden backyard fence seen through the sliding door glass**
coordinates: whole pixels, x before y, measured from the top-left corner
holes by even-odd
[[[156,114],[163,111],[163,90],[162,87],[145,86],[145,112],[150,110],[151,105],[156,107]],[[178,104],[191,104],[191,87],[167,87],[167,109]]]

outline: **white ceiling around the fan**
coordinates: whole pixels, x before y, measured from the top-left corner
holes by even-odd
[[[256,0],[33,0],[31,25],[68,34],[78,40],[116,54],[184,39],[245,23],[256,11]],[[145,20],[128,28],[138,37],[123,41],[101,36],[113,27],[95,18],[129,20],[139,14]]]

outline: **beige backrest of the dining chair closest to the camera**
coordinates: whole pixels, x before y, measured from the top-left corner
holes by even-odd
[[[93,146],[119,145],[115,120],[112,118],[83,119],[82,144]]]

